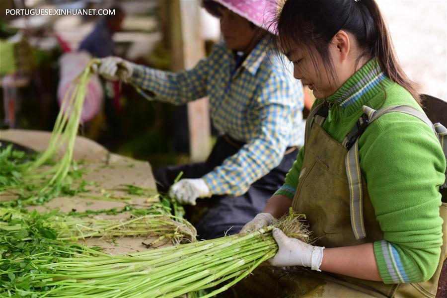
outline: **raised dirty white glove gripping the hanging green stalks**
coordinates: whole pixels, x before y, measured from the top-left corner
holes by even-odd
[[[102,75],[109,80],[129,81],[134,73],[135,64],[121,59],[120,57],[106,57],[100,59],[99,68],[93,64],[91,69],[93,73]]]

